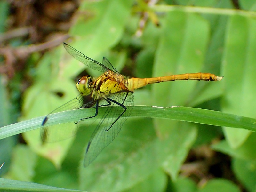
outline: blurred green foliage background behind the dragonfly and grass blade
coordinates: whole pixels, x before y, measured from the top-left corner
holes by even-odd
[[[5,23],[12,5],[1,4]],[[180,6],[169,6],[173,4]],[[224,76],[221,82],[154,84],[135,91],[134,105],[180,105],[255,118],[255,9],[256,1],[246,0],[166,0],[152,7],[143,1],[82,1],[66,42],[95,60],[106,56],[129,76]],[[135,36],[138,12],[151,16],[141,37]],[[32,43],[16,38],[8,45]],[[42,56],[32,53],[24,66],[11,79],[1,74],[2,126],[48,114],[77,95],[77,77],[100,75],[69,56],[62,45]],[[29,86],[22,89],[24,84]],[[17,136],[0,140],[0,160],[5,162],[1,177],[86,191],[256,190],[254,132],[129,118],[113,143],[84,168],[92,131],[82,129],[75,138],[44,146],[40,130],[23,133],[24,142]]]

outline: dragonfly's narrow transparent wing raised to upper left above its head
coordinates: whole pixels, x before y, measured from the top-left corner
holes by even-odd
[[[68,45],[66,43],[63,43],[63,46],[71,56],[73,56],[75,59],[79,60],[80,62],[84,63],[87,67],[90,67],[92,69],[95,69],[95,70],[101,71],[101,72],[106,72],[109,70],[118,72],[111,65],[111,63],[108,60],[107,60],[107,62],[104,62],[107,65],[107,66],[105,66],[105,65],[102,65],[101,63],[99,63],[98,61],[87,57],[86,55],[77,51],[75,48],[71,47],[70,45]],[[104,61],[104,58],[103,58],[103,61]]]

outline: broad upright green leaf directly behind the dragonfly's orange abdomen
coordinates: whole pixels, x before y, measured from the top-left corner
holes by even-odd
[[[186,12],[168,13],[163,23],[163,30],[156,51],[153,76],[200,72],[208,38],[209,26],[201,17]],[[198,82],[177,81],[152,85],[154,98],[152,103],[157,106],[183,105],[190,100],[189,96],[195,89],[196,83]],[[175,179],[182,162],[195,141],[195,128],[191,124],[170,120],[156,120],[155,122],[158,136],[169,141],[169,143],[163,141],[163,144],[169,148],[162,147],[158,150],[164,149],[165,153],[169,153],[169,156],[166,156],[164,167]],[[189,139],[187,138],[188,135],[190,135]],[[170,164],[171,162],[172,164]]]

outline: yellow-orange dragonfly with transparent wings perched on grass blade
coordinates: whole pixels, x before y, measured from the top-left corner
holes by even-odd
[[[133,92],[135,89],[148,84],[160,83],[164,81],[175,80],[204,80],[204,81],[220,81],[223,77],[216,76],[211,73],[186,73],[180,75],[170,75],[153,78],[128,78],[120,74],[116,68],[103,57],[102,63],[93,60],[83,53],[77,51],[70,45],[63,43],[67,52],[76,60],[84,63],[87,67],[98,70],[103,75],[98,78],[91,76],[83,76],[76,83],[76,88],[80,92],[79,95],[68,103],[60,106],[47,115],[42,122],[41,139],[43,142],[55,142],[74,136],[77,133],[77,124],[96,117],[100,107],[108,107],[102,118],[95,127],[94,132],[88,142],[85,156],[84,167],[87,167],[107,147],[118,135],[122,125],[132,113]],[[84,97],[89,96],[90,101],[85,102]],[[127,106],[130,106],[127,108]],[[79,122],[72,123],[75,126],[55,125],[47,127],[47,122],[60,111],[71,109],[81,109],[93,107],[95,113],[91,116],[80,119]],[[117,115],[116,115],[117,114]],[[63,136],[62,132],[68,132]]]

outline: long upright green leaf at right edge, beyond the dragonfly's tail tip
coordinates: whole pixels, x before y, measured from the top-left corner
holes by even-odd
[[[242,16],[229,19],[225,54],[223,57],[223,74],[225,97],[222,110],[247,117],[256,117],[256,20]],[[224,128],[228,143],[232,148],[241,146],[249,136],[246,130]]]

